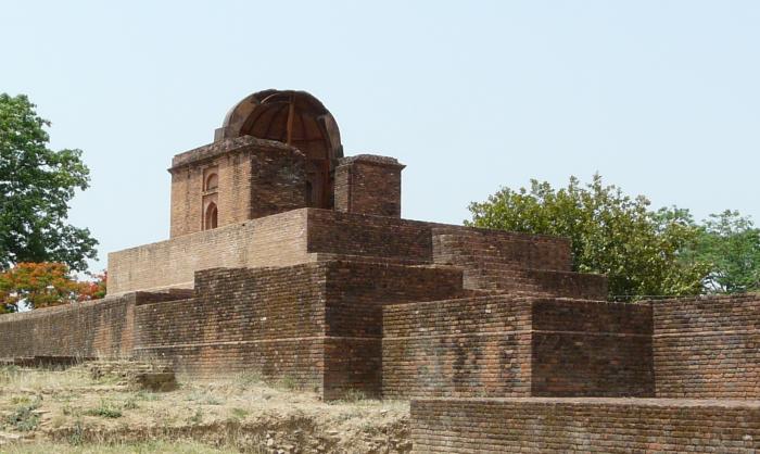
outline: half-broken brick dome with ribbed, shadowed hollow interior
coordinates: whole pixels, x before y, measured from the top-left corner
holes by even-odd
[[[311,205],[333,206],[333,172],[343,157],[340,130],[325,105],[305,91],[264,90],[245,97],[225,117],[215,140],[241,136],[276,140],[307,156]]]

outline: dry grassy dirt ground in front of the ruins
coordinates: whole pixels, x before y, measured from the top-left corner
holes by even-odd
[[[83,366],[0,368],[3,453],[406,453],[408,415],[408,402],[326,403],[246,375],[149,392]]]

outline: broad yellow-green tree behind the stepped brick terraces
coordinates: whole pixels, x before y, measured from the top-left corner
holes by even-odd
[[[709,264],[685,261],[700,229],[685,210],[651,211],[643,196],[631,198],[595,175],[567,188],[531,181],[530,189],[504,188],[485,202],[469,205],[466,225],[569,238],[574,270],[600,273],[613,298],[698,294]]]

